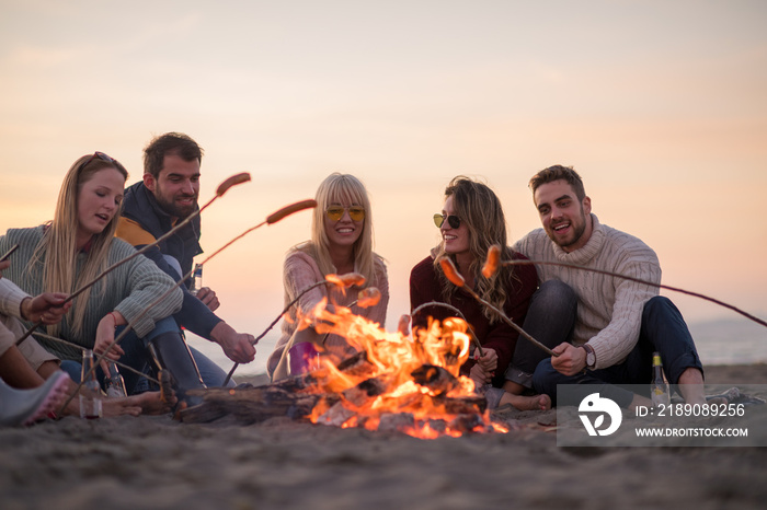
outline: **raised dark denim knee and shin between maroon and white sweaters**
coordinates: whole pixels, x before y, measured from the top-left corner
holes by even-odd
[[[557,347],[572,337],[576,310],[577,297],[569,285],[560,280],[545,281],[530,299],[522,328],[546,347]],[[506,380],[531,389],[533,372],[548,357],[535,344],[519,336],[514,358],[506,369]]]

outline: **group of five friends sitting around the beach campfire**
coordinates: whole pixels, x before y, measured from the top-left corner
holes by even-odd
[[[234,385],[186,344],[184,329],[218,344],[237,363],[253,361],[255,338],[215,313],[216,292],[207,287],[192,292],[191,282],[182,281],[203,252],[202,148],[186,135],[169,132],[151,140],[144,157],[142,179],[127,189],[128,173],[113,158],[102,152],[79,158],[65,176],[54,219],[9,229],[0,237],[0,254],[19,245],[0,262],[0,425],[31,424],[56,412],[78,415],[72,396],[83,349],[105,353],[96,371],[102,384],[105,362],[133,369],[123,371],[127,395],[104,399],[104,416],[164,414],[198,403],[191,390]],[[417,311],[413,329],[430,317],[455,316],[450,308],[460,312],[481,345],[481,356],[470,356],[461,373],[491,408],[548,409],[557,405],[558,384],[583,387],[584,396],[596,384],[621,407],[648,405],[646,396],[620,385],[650,383],[653,352],[661,353],[668,381],[686,402],[705,403],[703,370],[690,333],[674,304],[659,295],[655,253],[600,223],[572,167],[547,167],[533,176],[529,188],[542,229],[510,245],[495,193],[466,176],[450,181],[442,212],[434,215],[442,240],[410,275],[411,311]],[[385,258],[373,251],[367,189],[353,175],[333,173],[316,200],[310,240],[285,258],[285,304],[296,303],[268,357],[273,381],[300,370],[288,360],[307,345],[350,353],[344,338],[320,335],[311,321],[299,320],[323,300],[381,326],[386,322],[389,282]],[[501,247],[503,263],[485,276],[481,269],[492,246]],[[121,263],[136,250],[145,251]],[[445,275],[445,257],[469,290]],[[362,275],[364,287],[377,288],[380,300],[363,308],[332,286],[305,292],[331,274]],[[504,318],[554,355],[520,337]],[[172,375],[171,397],[149,382],[158,371]]]

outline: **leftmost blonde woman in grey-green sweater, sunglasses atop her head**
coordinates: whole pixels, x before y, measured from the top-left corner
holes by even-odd
[[[20,245],[14,255],[19,263],[7,269],[4,276],[33,295],[72,293],[134,254],[133,246],[114,236],[127,177],[125,167],[102,152],[78,159],[65,176],[54,220],[35,228],[11,229],[0,237],[0,252]],[[141,371],[151,353],[175,379],[179,398],[190,404],[193,401],[185,399],[185,391],[204,385],[181,332],[169,317],[181,308],[182,301],[181,290],[171,291],[173,285],[154,263],[144,256],[134,257],[76,298],[60,324],[47,326],[45,333],[69,345],[46,337],[38,340],[64,360],[61,368],[72,379],[79,379],[82,350],[104,352],[114,344],[117,328],[130,323],[133,331],[112,348],[107,358]],[[32,324],[26,321],[25,326]],[[128,371],[123,376],[128,395],[146,390],[146,384],[140,384],[146,382],[144,378]],[[128,398],[153,403],[158,408],[158,392],[140,397]],[[111,404],[107,401],[105,413]],[[77,399],[72,402],[77,404]]]

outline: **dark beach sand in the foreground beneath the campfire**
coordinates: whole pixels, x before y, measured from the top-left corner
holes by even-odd
[[[706,379],[767,384],[767,366],[709,367]],[[0,507],[705,510],[767,500],[763,448],[561,448],[548,427],[556,412],[496,415],[516,428],[419,440],[287,418],[160,416],[0,429]]]

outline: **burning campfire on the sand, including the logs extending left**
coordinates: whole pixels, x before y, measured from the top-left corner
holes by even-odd
[[[348,308],[331,312],[324,302],[310,315],[320,335],[343,337],[356,353],[328,348],[310,372],[265,386],[206,390],[203,404],[182,412],[181,419],[232,416],[256,422],[288,416],[424,439],[506,431],[490,420],[473,381],[459,373],[470,344],[462,320],[430,320],[426,327],[403,335],[386,332]]]

